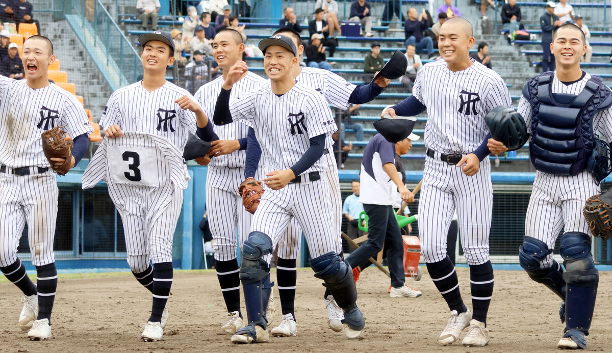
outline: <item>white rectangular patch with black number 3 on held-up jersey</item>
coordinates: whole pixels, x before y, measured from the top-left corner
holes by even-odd
[[[154,148],[109,146],[107,154],[114,183],[159,186]]]

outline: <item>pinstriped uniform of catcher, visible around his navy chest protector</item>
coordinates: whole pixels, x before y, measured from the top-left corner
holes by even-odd
[[[564,84],[559,81],[557,75],[554,75],[551,91],[578,95],[590,78],[591,75],[585,73],[580,80]],[[529,131],[532,119],[531,105],[524,96],[518,104],[518,112],[524,117]],[[612,140],[612,107],[595,114],[593,132],[600,134],[600,138],[608,142]],[[577,231],[591,235],[582,210],[584,202],[599,191],[600,187],[595,184],[592,175],[586,170],[573,176],[553,175],[537,170],[527,208],[525,235],[545,242],[549,249],[554,249],[554,242],[561,228],[565,233]],[[542,261],[542,266],[550,267],[552,259],[553,255],[548,255]]]

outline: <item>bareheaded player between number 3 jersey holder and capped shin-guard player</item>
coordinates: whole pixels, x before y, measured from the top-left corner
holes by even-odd
[[[242,35],[234,29],[222,29],[212,42],[212,56],[223,76],[208,82],[198,89],[195,99],[204,107],[207,116],[212,116],[221,92],[223,81],[232,65],[242,60],[244,43]],[[234,84],[232,98],[237,98],[266,82],[250,71]],[[218,331],[222,335],[233,335],[244,327],[240,310],[240,277],[236,260],[236,230],[238,242],[242,244],[248,236],[251,214],[242,206],[238,187],[244,180],[245,148],[248,127],[244,124],[214,126],[220,140],[212,142],[206,177],[206,205],[209,224],[214,239],[217,278],[221,285],[228,315]]]

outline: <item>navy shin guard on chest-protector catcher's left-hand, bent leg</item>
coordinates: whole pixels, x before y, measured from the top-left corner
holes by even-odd
[[[565,300],[565,280],[561,265],[553,260],[551,267],[540,268],[540,262],[552,252],[545,242],[526,236],[523,238],[523,245],[518,247],[518,262],[532,280],[547,286]]]

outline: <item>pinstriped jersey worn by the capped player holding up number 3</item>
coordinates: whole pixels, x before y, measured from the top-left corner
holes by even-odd
[[[195,114],[174,103],[185,95],[193,99],[191,93],[171,82],[149,92],[138,81],[116,90],[108,98],[100,125],[105,129],[119,125],[122,131],[162,136],[182,151],[188,134],[195,134],[197,127]]]

